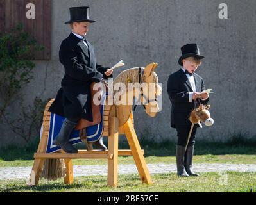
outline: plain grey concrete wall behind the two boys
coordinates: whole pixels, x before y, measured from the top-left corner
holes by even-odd
[[[126,66],[115,71],[142,66],[155,61],[163,83],[163,110],[154,119],[138,108],[135,129],[139,137],[158,140],[176,139],[169,126],[171,103],[167,95],[169,74],[179,69],[178,58],[182,45],[196,42],[206,58],[198,70],[206,88],[215,94],[210,97],[212,127],[198,131],[198,138],[226,140],[234,133],[255,136],[256,90],[254,63],[256,2],[226,0],[228,19],[219,19],[218,6],[223,1],[210,0],[53,0],[52,58],[36,61],[35,78],[24,89],[26,103],[40,96],[55,97],[64,74],[58,62],[60,42],[69,35],[68,8],[91,7],[92,19],[89,41],[96,49],[98,63],[111,66],[124,60]],[[13,142],[15,134],[1,124],[1,142]]]

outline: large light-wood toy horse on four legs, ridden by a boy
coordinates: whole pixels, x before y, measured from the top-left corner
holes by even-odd
[[[139,100],[144,106],[144,110],[150,117],[155,117],[159,108],[157,97],[162,94],[162,88],[158,85],[158,77],[154,70],[157,67],[157,63],[151,63],[145,68],[135,67],[133,69],[124,70],[121,72],[117,78],[114,80],[114,86],[116,83],[124,83],[128,88],[129,83],[139,83],[139,85],[154,83],[155,90],[145,90],[141,88],[141,96]],[[150,86],[148,86],[150,87]],[[154,92],[153,94],[151,92]],[[133,89],[127,89],[121,97],[132,96],[132,99],[138,97],[137,91]],[[151,97],[153,96],[153,98]],[[151,97],[151,98],[150,98]],[[146,100],[146,104],[145,104]],[[35,161],[33,163],[33,168],[30,177],[27,181],[28,186],[37,186],[40,179],[42,169],[44,167],[44,161],[47,159],[64,159],[66,173],[64,177],[65,184],[73,184],[73,166],[72,159],[107,159],[108,160],[108,186],[117,187],[117,168],[118,168],[118,156],[133,156],[139,176],[141,177],[142,183],[152,184],[151,176],[144,160],[144,151],[141,150],[139,140],[135,133],[133,126],[133,113],[132,104],[128,105],[108,105],[108,100],[105,102],[105,107],[103,110],[104,117],[104,128],[101,136],[108,137],[108,150],[107,151],[85,151],[80,150],[78,154],[65,154],[65,153],[53,153],[49,154],[46,152],[46,147],[50,132],[50,121],[51,113],[47,110],[49,106],[53,103],[54,99],[51,100],[47,106],[46,111],[44,111],[44,122],[43,122],[43,133],[40,143],[38,145],[37,153],[35,153]],[[130,146],[130,150],[119,150],[118,141],[119,134],[124,134]]]

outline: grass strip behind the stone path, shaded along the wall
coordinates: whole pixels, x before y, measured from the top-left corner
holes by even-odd
[[[107,142],[105,142],[107,143]],[[176,163],[175,143],[156,143],[153,140],[140,140],[145,151],[146,163]],[[38,142],[26,147],[11,145],[0,150],[0,167],[31,167],[33,154],[37,151]],[[233,163],[254,164],[256,162],[256,141],[235,137],[226,143],[197,142],[194,163]],[[78,145],[78,149],[85,146]],[[126,142],[119,144],[119,149],[128,149]],[[119,163],[134,163],[132,157],[119,157]],[[103,165],[106,160],[73,160],[73,165]]]

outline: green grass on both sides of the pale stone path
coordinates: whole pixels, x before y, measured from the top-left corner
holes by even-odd
[[[145,151],[146,163],[176,163],[175,143],[155,143],[140,140]],[[9,146],[0,150],[0,167],[32,166],[37,143],[26,147]],[[196,143],[194,163],[243,163],[255,164],[256,142],[235,138],[226,143]],[[83,148],[83,147],[78,147]],[[119,149],[128,149],[121,143]],[[119,157],[119,163],[134,163],[132,157]],[[73,165],[107,165],[106,160],[73,160]],[[153,185],[142,185],[139,175],[119,176],[117,189],[107,187],[107,176],[76,177],[73,185],[65,185],[62,179],[40,179],[37,187],[29,188],[25,180],[0,181],[0,192],[253,192],[256,191],[256,173],[217,172],[203,173],[200,177],[180,178],[176,174],[155,174]]]

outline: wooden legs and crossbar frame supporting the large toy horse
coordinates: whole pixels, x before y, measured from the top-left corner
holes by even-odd
[[[67,168],[66,176],[64,177],[65,184],[73,184],[73,165],[72,159],[106,159],[108,160],[108,186],[112,188],[117,187],[117,176],[118,176],[118,156],[133,156],[139,176],[144,184],[152,184],[151,176],[144,159],[144,151],[141,150],[139,140],[133,127],[133,114],[130,114],[128,121],[121,127],[118,126],[117,109],[115,106],[105,106],[104,109],[104,130],[103,136],[108,137],[108,150],[107,151],[86,151],[80,150],[78,154],[65,154],[55,153],[47,154],[47,140],[49,135],[50,117],[51,113],[48,112],[49,107],[53,103],[54,99],[51,100],[44,111],[44,122],[43,122],[43,134],[38,145],[37,153],[34,155],[33,168],[30,174],[30,178],[27,181],[28,186],[37,186],[39,178],[42,174],[44,167],[44,161],[46,159],[64,159],[65,167]],[[110,110],[114,108],[110,113]],[[114,113],[114,114],[113,114]],[[112,116],[110,116],[112,115]],[[130,146],[130,150],[119,150],[118,149],[118,137],[119,134],[124,134]]]

